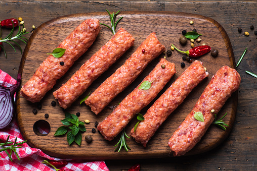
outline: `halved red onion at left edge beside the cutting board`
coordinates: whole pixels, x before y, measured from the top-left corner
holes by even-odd
[[[17,82],[11,87],[3,87],[0,85],[0,129],[7,127],[14,113],[14,94],[18,90],[21,83],[21,75],[18,74]]]

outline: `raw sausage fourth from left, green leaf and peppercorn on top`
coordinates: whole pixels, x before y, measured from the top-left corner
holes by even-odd
[[[161,65],[165,65],[165,69],[162,69]],[[175,73],[175,64],[161,59],[138,87],[128,94],[104,121],[99,123],[97,129],[104,138],[110,141],[116,137],[136,114],[157,96]],[[139,89],[144,81],[153,81],[148,90]]]

